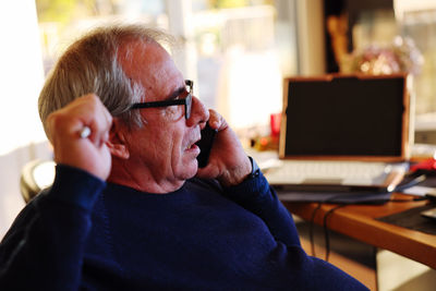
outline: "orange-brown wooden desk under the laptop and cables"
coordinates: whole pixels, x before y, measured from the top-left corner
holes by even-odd
[[[411,199],[412,196],[395,193],[392,198]],[[390,202],[384,205],[347,205],[336,209],[328,218],[331,230],[359,241],[391,251],[436,269],[436,235],[426,234],[376,220],[391,214],[425,205],[426,202]],[[283,205],[294,215],[310,220],[317,203],[290,203]],[[315,223],[323,226],[324,215],[335,204],[325,204],[315,216]]]

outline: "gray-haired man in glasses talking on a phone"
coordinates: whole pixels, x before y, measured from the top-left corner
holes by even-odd
[[[366,290],[304,253],[292,217],[193,96],[166,39],[104,27],[60,58],[39,99],[56,179],[3,239],[0,289]],[[206,122],[218,133],[198,169]]]

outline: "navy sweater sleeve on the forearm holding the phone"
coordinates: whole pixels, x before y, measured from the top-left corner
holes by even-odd
[[[274,238],[288,246],[300,246],[300,238],[291,214],[280,203],[276,191],[261,172],[258,177],[223,190],[225,195],[261,217]]]

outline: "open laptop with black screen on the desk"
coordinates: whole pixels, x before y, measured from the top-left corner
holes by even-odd
[[[402,74],[286,78],[279,160],[265,175],[289,191],[393,191],[408,170],[409,107]]]

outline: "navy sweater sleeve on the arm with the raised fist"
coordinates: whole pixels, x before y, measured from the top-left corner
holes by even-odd
[[[0,244],[0,290],[77,290],[90,210],[105,186],[57,166],[51,189],[26,205]]]

